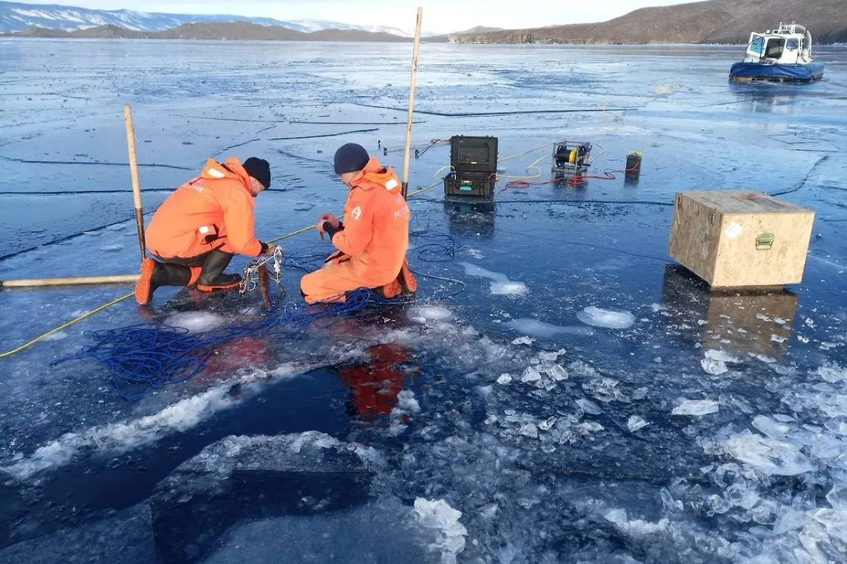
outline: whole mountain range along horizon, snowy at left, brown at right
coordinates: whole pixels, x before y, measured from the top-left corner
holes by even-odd
[[[525,30],[476,27],[426,36],[456,43],[745,43],[750,31],[797,22],[815,44],[847,42],[847,0],[707,0],[640,8],[596,24],[551,25]],[[282,21],[231,15],[147,14],[0,1],[0,35],[127,39],[272,41],[411,41],[387,26],[332,21]]]

